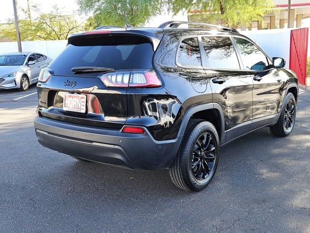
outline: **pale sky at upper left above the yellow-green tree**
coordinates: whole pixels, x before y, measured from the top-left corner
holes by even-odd
[[[26,8],[27,0],[16,0],[17,8]],[[63,8],[62,12],[66,14],[73,14],[75,11],[78,13],[78,4],[76,0],[30,0],[31,4],[41,5],[41,10],[43,12],[49,12],[49,10],[57,5],[59,8]],[[5,23],[8,18],[14,18],[13,11],[13,0],[0,0],[0,23]],[[19,14],[21,14],[20,9],[18,9]],[[78,15],[78,14],[77,14]],[[85,18],[84,15],[78,16],[80,20]]]

